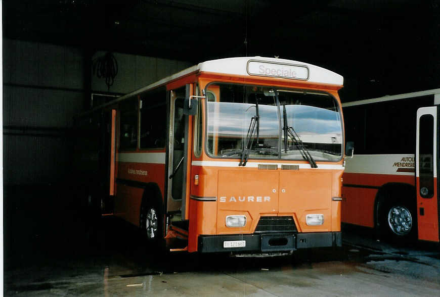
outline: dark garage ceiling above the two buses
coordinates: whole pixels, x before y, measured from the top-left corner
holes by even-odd
[[[193,63],[279,56],[342,74],[350,97],[440,87],[440,0],[4,0],[3,6],[4,36],[11,39]]]

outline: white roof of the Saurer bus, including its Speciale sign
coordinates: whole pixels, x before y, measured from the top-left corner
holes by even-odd
[[[241,76],[262,76],[286,78],[292,80],[303,80],[312,83],[343,85],[343,77],[333,71],[308,63],[266,57],[240,57],[211,60],[199,63],[198,65],[184,69],[178,73],[167,76],[159,81],[149,84],[141,89],[127,93],[100,105],[92,110],[85,111],[81,115],[89,114],[103,107],[112,105],[128,97],[164,85],[186,75],[198,72],[210,72],[219,74],[241,75]]]

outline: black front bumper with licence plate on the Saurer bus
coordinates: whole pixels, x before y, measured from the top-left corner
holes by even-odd
[[[198,251],[201,253],[283,252],[331,246],[342,246],[341,232],[200,235]]]

